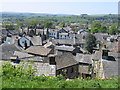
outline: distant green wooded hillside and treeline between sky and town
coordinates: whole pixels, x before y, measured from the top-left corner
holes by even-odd
[[[61,27],[70,25],[71,23],[79,23],[80,25],[71,26],[72,30],[77,32],[80,29],[91,29],[92,33],[106,33],[106,32],[113,32],[113,30],[107,30],[109,26],[115,25],[118,26],[118,17],[116,14],[110,15],[47,15],[47,14],[35,14],[35,13],[2,13],[2,21],[4,23],[11,22],[10,25],[3,25],[7,27],[7,29],[18,29],[18,27],[22,29],[24,26],[28,26],[28,28],[35,28],[43,29],[43,28],[52,28],[54,29],[55,26],[59,25]],[[18,24],[15,26],[14,24]],[[92,27],[91,27],[92,24]],[[89,27],[90,25],[90,27]],[[84,27],[85,26],[85,27]],[[89,28],[88,28],[89,27]],[[107,27],[107,29],[106,29]],[[29,32],[29,30],[28,30]],[[119,33],[120,31],[118,31]],[[114,33],[114,32],[113,32]],[[116,32],[115,32],[116,33]]]

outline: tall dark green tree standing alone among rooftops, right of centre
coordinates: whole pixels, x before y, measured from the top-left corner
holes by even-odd
[[[92,34],[87,34],[85,37],[85,49],[92,53],[94,47],[96,47],[96,38]]]

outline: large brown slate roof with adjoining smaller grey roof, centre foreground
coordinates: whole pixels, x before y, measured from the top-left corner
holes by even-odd
[[[62,55],[56,56],[57,70],[76,64],[92,64],[91,55],[77,54],[74,56],[70,52],[64,52]]]

